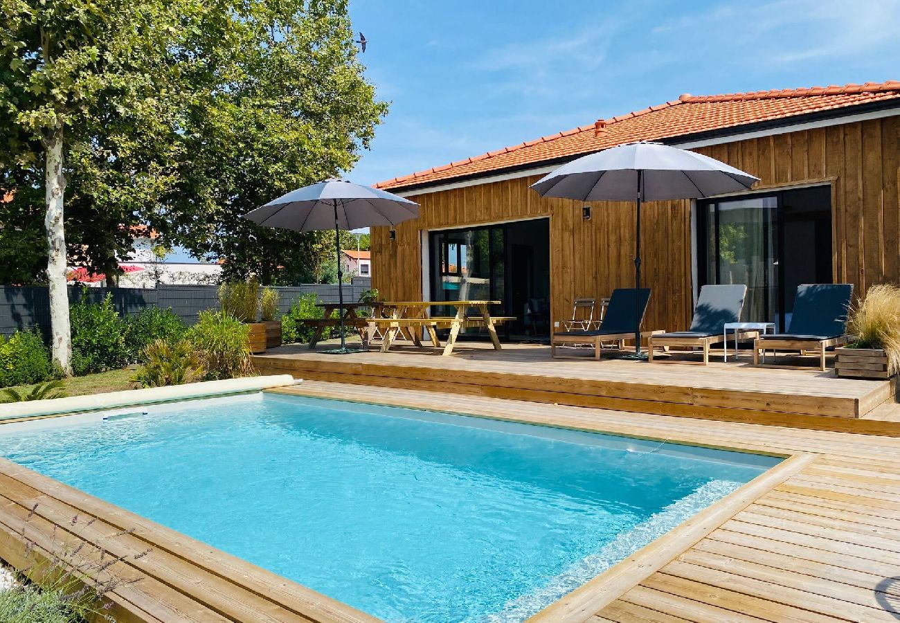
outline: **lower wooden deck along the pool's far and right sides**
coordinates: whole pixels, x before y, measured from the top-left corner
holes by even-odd
[[[896,438],[357,384],[275,391],[791,456],[535,622],[900,619]]]

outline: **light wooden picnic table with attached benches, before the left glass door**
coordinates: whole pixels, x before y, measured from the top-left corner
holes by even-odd
[[[422,346],[421,331],[428,331],[428,337],[434,347],[440,348],[441,342],[437,338],[438,329],[449,329],[446,346],[442,355],[445,357],[453,352],[456,338],[460,330],[466,328],[487,329],[491,336],[494,348],[500,350],[500,339],[497,337],[497,325],[515,318],[509,316],[491,316],[491,305],[500,305],[500,301],[399,301],[382,302],[377,307],[377,312],[368,320],[368,328],[365,335],[367,347],[378,337],[382,338],[381,351],[390,350],[392,342],[398,333],[409,335],[413,344]],[[431,307],[454,307],[453,316],[429,316]],[[469,310],[476,310],[477,315],[470,315]]]

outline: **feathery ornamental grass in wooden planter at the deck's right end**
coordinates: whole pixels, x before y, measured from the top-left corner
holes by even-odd
[[[856,341],[835,349],[838,376],[888,379],[900,369],[900,287],[869,288],[850,311],[848,330]]]

